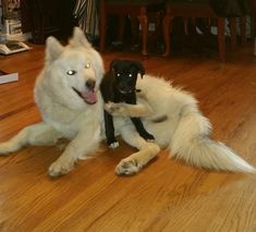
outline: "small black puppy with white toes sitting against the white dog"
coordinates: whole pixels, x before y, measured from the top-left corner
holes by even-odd
[[[136,105],[136,81],[137,74],[145,74],[142,63],[130,60],[114,60],[110,64],[110,69],[105,75],[100,91],[105,102],[126,102]],[[154,136],[149,134],[143,126],[139,118],[131,118],[138,134],[147,139],[153,141]],[[113,118],[105,110],[105,129],[107,144],[111,148],[119,146],[114,137]]]

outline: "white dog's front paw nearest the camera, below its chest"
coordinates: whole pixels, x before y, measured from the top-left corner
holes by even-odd
[[[48,173],[52,178],[68,174],[74,168],[74,162],[57,160],[49,167]]]

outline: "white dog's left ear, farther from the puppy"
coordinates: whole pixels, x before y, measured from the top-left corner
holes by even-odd
[[[54,37],[48,37],[46,40],[46,60],[48,62],[54,61],[63,49],[63,46]]]

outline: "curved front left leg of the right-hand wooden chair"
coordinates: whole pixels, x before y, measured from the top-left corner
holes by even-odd
[[[166,45],[166,52],[162,54],[162,57],[168,57],[170,54],[171,50],[171,42],[170,42],[170,30],[171,30],[171,21],[172,16],[169,14],[168,9],[167,13],[162,20],[162,32],[163,32],[163,39]]]

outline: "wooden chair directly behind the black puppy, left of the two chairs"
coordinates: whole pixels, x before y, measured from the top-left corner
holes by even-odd
[[[100,0],[100,51],[105,50],[107,20],[111,14],[120,15],[120,34],[123,16],[137,17],[142,26],[142,53],[147,56],[148,13],[163,9],[163,0]]]

